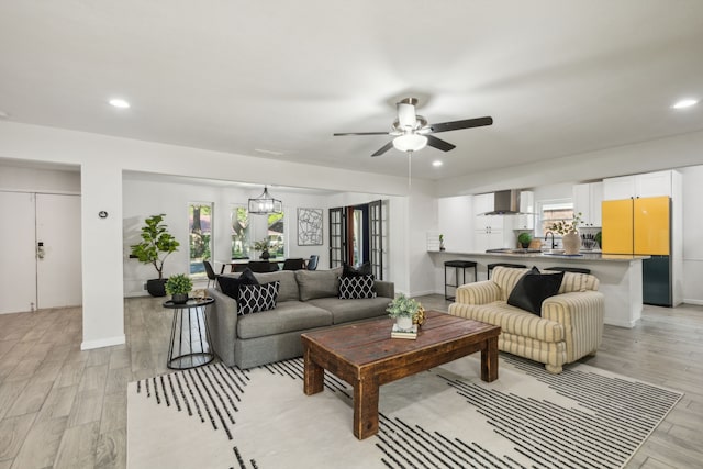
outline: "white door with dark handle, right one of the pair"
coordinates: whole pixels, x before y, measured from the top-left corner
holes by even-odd
[[[79,196],[36,194],[36,244],[37,308],[81,304]]]

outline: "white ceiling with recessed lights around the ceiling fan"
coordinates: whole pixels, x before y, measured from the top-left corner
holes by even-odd
[[[378,174],[406,168],[370,157],[388,137],[332,134],[389,130],[409,96],[431,123],[493,116],[413,156],[442,179],[703,130],[703,103],[670,109],[703,99],[702,45],[700,0],[3,1],[0,110]]]

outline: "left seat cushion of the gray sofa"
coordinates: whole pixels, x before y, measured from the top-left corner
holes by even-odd
[[[239,338],[255,338],[331,325],[330,311],[301,301],[282,301],[275,310],[239,316],[236,334]]]

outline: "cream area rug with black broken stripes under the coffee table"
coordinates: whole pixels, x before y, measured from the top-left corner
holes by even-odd
[[[466,357],[381,387],[379,434],[352,433],[352,388],[302,359],[221,364],[129,384],[127,467],[620,468],[682,394],[587,365],[549,375],[501,354],[499,380]]]

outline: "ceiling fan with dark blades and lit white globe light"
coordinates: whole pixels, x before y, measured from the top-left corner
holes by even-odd
[[[437,138],[432,134],[448,131],[458,131],[461,129],[481,127],[484,125],[491,125],[493,118],[477,118],[467,119],[464,121],[442,122],[438,124],[428,124],[427,120],[422,115],[415,113],[415,104],[417,99],[405,98],[398,102],[398,119],[393,122],[390,132],[347,132],[336,133],[334,136],[343,135],[391,135],[394,138],[379,148],[371,156],[380,156],[395,147],[401,152],[417,152],[429,145],[434,148],[443,152],[449,152],[456,148],[456,145],[445,142],[442,138]]]

